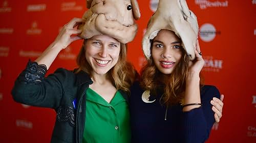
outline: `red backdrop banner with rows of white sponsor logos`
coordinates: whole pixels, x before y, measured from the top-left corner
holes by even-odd
[[[128,60],[139,71],[145,62],[141,40],[157,0],[138,0],[141,18]],[[190,0],[197,15],[205,59],[206,84],[225,95],[223,117],[207,142],[256,142],[256,1]],[[55,111],[13,101],[11,89],[29,59],[35,60],[73,17],[82,17],[85,0],[0,1],[0,142],[50,142]],[[161,22],[161,21],[159,21]],[[82,41],[61,51],[47,74],[76,67]]]

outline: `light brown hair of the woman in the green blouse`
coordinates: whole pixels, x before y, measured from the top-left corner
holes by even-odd
[[[83,43],[86,41],[87,40],[84,40]],[[78,65],[76,73],[84,71],[91,76],[92,67],[86,60],[86,47],[84,45],[85,44],[82,45],[76,58],[76,63]],[[123,90],[124,92],[130,93],[130,87],[135,80],[136,71],[133,65],[126,61],[126,55],[127,45],[121,43],[118,62],[112,69],[110,69],[108,76],[117,90]]]

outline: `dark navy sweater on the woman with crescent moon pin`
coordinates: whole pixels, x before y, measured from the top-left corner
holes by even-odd
[[[166,110],[159,102],[160,96],[153,103],[145,103],[141,99],[143,92],[135,82],[130,97],[132,143],[200,143],[209,137],[215,122],[210,100],[220,98],[216,87],[204,85],[200,92],[203,105],[187,112],[182,111],[181,105]]]

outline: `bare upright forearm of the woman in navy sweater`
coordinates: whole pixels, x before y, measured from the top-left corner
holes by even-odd
[[[191,103],[201,103],[200,99],[200,77],[198,73],[188,73],[186,77],[186,90],[184,97],[184,105]],[[198,108],[201,105],[185,106],[183,111],[189,111]]]

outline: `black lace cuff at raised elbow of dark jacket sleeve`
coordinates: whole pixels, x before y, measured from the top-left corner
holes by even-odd
[[[19,81],[27,84],[39,84],[44,79],[46,72],[46,65],[38,65],[36,62],[29,60],[26,69],[19,77]]]

